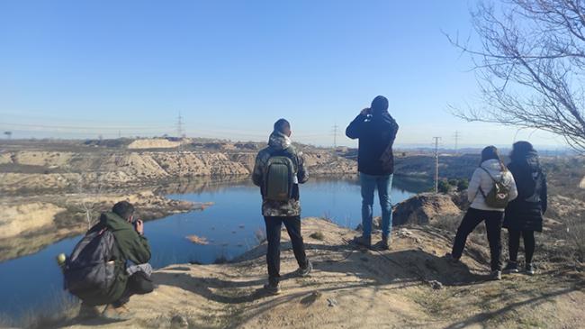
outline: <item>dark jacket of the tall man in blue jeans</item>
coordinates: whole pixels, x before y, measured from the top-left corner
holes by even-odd
[[[398,124],[384,111],[381,114],[357,115],[346,129],[347,137],[359,139],[357,169],[368,175],[394,173],[392,145],[398,133]]]

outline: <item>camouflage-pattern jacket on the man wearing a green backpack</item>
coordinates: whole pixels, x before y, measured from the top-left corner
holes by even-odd
[[[268,140],[268,147],[260,152],[256,157],[252,181],[260,187],[260,192],[264,186],[264,176],[266,164],[276,151],[285,151],[287,156],[293,160],[297,181],[299,184],[309,179],[309,173],[305,168],[305,161],[302,152],[297,152],[291,144],[291,139],[283,133],[272,133]],[[268,201],[262,197],[262,215],[266,217],[292,217],[301,215],[301,202],[299,201],[299,184],[293,186],[293,197],[288,201]]]

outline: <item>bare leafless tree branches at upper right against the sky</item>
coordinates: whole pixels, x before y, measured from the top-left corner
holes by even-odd
[[[481,49],[447,38],[472,57],[485,106],[455,115],[548,131],[585,152],[585,4],[502,0],[477,5],[472,17]]]

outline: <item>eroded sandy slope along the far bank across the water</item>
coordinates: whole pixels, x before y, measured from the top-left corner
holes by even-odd
[[[249,176],[256,155],[256,151],[11,151],[0,153],[0,193],[38,194],[79,187],[157,185],[176,178]],[[305,156],[311,176],[356,173],[355,161],[331,152],[310,151]]]

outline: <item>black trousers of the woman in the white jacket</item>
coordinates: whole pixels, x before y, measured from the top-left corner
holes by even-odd
[[[464,253],[465,242],[467,236],[473,232],[475,227],[485,221],[485,229],[488,234],[488,242],[490,243],[491,253],[491,270],[501,270],[501,225],[504,219],[504,212],[488,211],[469,208],[461,221],[457,234],[455,235],[455,242],[453,244],[453,251],[451,254],[454,258],[459,259]]]

